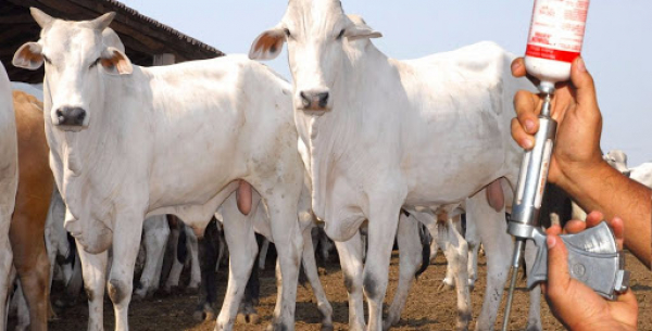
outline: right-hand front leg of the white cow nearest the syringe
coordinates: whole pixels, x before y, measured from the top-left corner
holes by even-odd
[[[389,262],[399,222],[400,203],[372,202],[368,252],[363,271],[363,290],[369,311],[368,330],[383,329],[383,301],[387,291]]]

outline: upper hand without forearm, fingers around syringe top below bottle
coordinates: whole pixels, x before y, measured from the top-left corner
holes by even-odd
[[[523,58],[512,62],[512,75],[527,75]],[[528,78],[535,85],[539,84],[536,78]],[[526,150],[534,147],[534,135],[539,130],[538,115],[541,105],[541,98],[529,91],[518,91],[514,97],[517,117],[512,119],[512,137]],[[570,81],[556,85],[551,116],[557,122],[557,132],[548,180],[572,192],[574,179],[584,178],[588,170],[606,165],[600,151],[602,115],[598,107],[593,78],[581,58],[577,58],[572,64]]]

